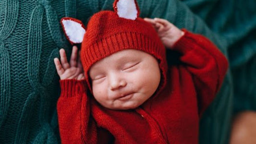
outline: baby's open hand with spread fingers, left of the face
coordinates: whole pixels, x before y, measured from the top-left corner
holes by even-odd
[[[85,79],[83,67],[81,64],[80,56],[77,60],[77,51],[78,48],[73,46],[70,62],[68,63],[65,50],[60,49],[61,62],[58,58],[54,58],[55,67],[57,73],[59,74],[61,80],[65,79],[76,79],[83,80]]]

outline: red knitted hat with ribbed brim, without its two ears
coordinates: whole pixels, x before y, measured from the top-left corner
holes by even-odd
[[[90,67],[98,60],[129,48],[153,55],[158,59],[161,71],[166,72],[165,47],[151,24],[141,18],[120,18],[112,11],[98,12],[91,17],[81,46],[81,61],[90,89]]]

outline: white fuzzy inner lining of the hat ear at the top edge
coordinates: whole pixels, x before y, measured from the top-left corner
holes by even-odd
[[[137,9],[134,0],[119,0],[117,2],[117,14],[119,17],[135,20]]]

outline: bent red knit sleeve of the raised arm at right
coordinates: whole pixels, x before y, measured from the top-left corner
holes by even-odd
[[[192,74],[201,116],[219,91],[228,69],[228,60],[206,37],[183,31],[184,36],[172,49],[182,54],[180,60]]]

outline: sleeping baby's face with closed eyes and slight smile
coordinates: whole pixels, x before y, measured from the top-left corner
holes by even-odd
[[[89,71],[95,99],[105,108],[143,104],[160,83],[158,61],[146,52],[126,49],[97,61]]]

